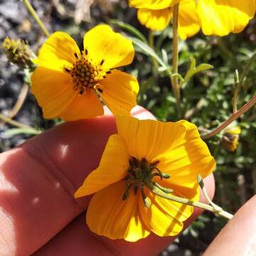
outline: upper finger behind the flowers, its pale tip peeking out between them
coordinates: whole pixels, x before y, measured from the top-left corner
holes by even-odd
[[[134,115],[154,118],[142,107]],[[0,155],[0,255],[31,255],[87,207],[73,194],[97,167],[114,117],[68,122]]]

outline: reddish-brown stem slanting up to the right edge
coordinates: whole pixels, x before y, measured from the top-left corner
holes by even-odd
[[[256,103],[256,95],[254,95],[245,105],[243,105],[240,110],[233,113],[225,122],[220,124],[217,128],[215,128],[212,132],[209,132],[208,134],[204,134],[201,136],[202,139],[209,139],[210,137],[215,136],[219,132],[221,132],[225,127],[228,126],[228,124],[231,124],[235,119],[238,119],[242,114],[250,110],[250,108],[255,105]]]

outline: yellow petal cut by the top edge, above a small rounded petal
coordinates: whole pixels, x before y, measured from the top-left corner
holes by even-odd
[[[177,4],[180,0],[129,0],[129,6],[135,8],[146,8],[152,10],[166,9],[174,4]]]

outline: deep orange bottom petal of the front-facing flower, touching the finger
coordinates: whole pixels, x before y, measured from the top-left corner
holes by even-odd
[[[78,94],[72,102],[59,114],[65,121],[98,117],[104,113],[102,103],[92,90],[88,89],[82,95]]]

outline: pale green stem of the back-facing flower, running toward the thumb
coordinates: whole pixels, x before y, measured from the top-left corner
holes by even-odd
[[[171,194],[166,194],[166,193],[160,191],[159,188],[156,188],[154,186],[150,187],[150,190],[153,193],[155,193],[157,196],[161,196],[162,198],[166,198],[166,199],[169,199],[171,201],[175,201],[177,203],[183,203],[183,204],[186,204],[188,206],[194,206],[194,207],[197,207],[197,208],[201,208],[203,210],[210,210],[211,212],[215,213],[216,215],[220,215],[220,216],[222,216],[224,218],[227,218],[228,220],[233,218],[232,214],[226,212],[222,208],[219,208],[219,210],[218,210],[215,207],[210,206],[210,205],[208,205],[206,203],[191,201],[191,200],[189,200],[187,198],[181,198],[181,197],[174,196],[174,195],[171,195]]]

